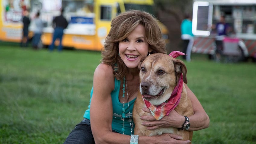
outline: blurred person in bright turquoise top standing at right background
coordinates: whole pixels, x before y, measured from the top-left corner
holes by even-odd
[[[190,14],[185,14],[184,20],[181,22],[181,39],[183,40],[182,52],[187,54],[187,56],[183,56],[183,59],[190,61],[190,53],[194,43],[194,34],[192,33],[192,21]]]

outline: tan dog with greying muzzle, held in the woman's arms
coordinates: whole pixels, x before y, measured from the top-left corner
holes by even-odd
[[[146,107],[142,95],[151,104],[159,105],[170,98],[174,87],[178,84],[181,73],[183,73],[183,82],[187,83],[187,68],[184,62],[166,54],[158,53],[147,56],[139,66],[139,69],[140,90],[133,107],[134,134],[139,136],[155,136],[162,133],[173,133],[182,136],[183,140],[189,139],[191,141],[193,132],[178,130],[173,127],[147,130],[146,126],[141,125],[144,120],[139,118],[140,116],[151,115],[142,110],[143,107]],[[174,110],[184,116],[193,114],[193,107],[190,99],[187,97],[184,85],[179,104]]]

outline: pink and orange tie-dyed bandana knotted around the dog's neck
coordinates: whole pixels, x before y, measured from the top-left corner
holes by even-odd
[[[173,58],[176,58],[180,55],[185,55],[185,53],[179,51],[173,51],[169,54]],[[160,105],[153,105],[149,101],[144,99],[144,95],[142,98],[144,103],[146,104],[147,108],[149,108],[151,114],[155,117],[156,120],[162,119],[165,115],[169,115],[171,110],[173,110],[181,100],[181,92],[183,87],[183,75],[181,73],[181,77],[179,79],[178,85],[175,86],[174,90],[171,93],[171,97]]]

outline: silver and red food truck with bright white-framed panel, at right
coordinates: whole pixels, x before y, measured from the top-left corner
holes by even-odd
[[[194,0],[191,53],[216,55],[216,29],[213,25],[225,15],[230,30],[222,37],[223,51],[232,61],[256,60],[256,1],[255,0]]]

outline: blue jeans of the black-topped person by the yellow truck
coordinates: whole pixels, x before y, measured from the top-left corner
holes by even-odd
[[[53,42],[52,44],[50,45],[49,49],[50,51],[53,51],[54,49],[54,42],[55,40],[58,38],[59,39],[59,46],[58,46],[58,50],[61,51],[62,50],[62,36],[63,36],[63,30],[64,28],[61,28],[61,27],[56,27],[54,29],[54,32],[53,32]]]

